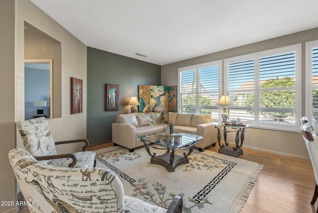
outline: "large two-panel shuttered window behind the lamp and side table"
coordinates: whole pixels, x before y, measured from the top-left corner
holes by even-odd
[[[229,119],[300,131],[300,51],[299,44],[225,59],[225,92],[234,103]]]

